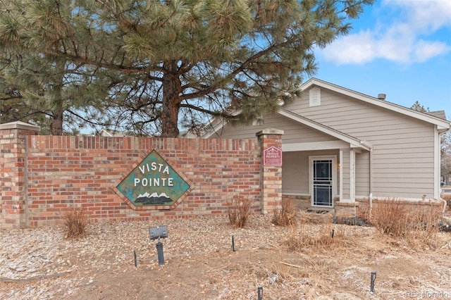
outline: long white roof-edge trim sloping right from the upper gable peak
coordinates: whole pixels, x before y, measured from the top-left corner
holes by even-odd
[[[345,87],[340,87],[338,85],[334,85],[330,82],[326,82],[323,80],[319,80],[317,78],[311,78],[307,80],[307,82],[304,82],[299,89],[306,90],[310,87],[317,86],[317,87],[323,87],[324,89],[330,89],[333,92],[337,92],[339,94],[344,94],[346,96],[350,96],[354,99],[359,99],[361,101],[364,101],[369,104],[373,104],[375,106],[379,106],[382,108],[386,108],[390,111],[395,111],[397,113],[402,113],[403,115],[409,115],[412,118],[416,118],[419,120],[423,120],[428,123],[432,123],[434,125],[437,125],[437,128],[440,132],[445,132],[447,130],[450,130],[451,123],[450,121],[447,121],[446,118],[442,118],[443,115],[440,115],[439,113],[421,113],[420,111],[414,111],[412,108],[407,108],[404,106],[400,106],[398,104],[394,104],[385,100],[381,100],[378,98],[375,98],[373,96],[369,96],[366,94],[362,94],[359,92],[352,91],[351,89],[347,89]],[[444,113],[444,112],[443,112]]]

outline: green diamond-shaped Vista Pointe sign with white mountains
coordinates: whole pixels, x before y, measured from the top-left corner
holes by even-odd
[[[190,185],[152,151],[116,188],[135,206],[171,206]]]

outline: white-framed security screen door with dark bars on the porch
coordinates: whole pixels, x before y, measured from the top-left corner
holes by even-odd
[[[333,158],[314,158],[311,198],[313,206],[333,206]]]

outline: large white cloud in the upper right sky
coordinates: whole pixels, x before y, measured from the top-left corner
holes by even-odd
[[[386,21],[385,15],[393,11],[396,18]],[[385,0],[373,28],[341,37],[321,52],[337,64],[362,64],[376,58],[422,63],[451,52],[450,44],[431,36],[443,27],[451,27],[450,0]]]

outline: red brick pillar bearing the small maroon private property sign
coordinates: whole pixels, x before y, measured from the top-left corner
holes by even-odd
[[[266,128],[257,132],[261,151],[261,213],[273,213],[282,203],[283,130]]]

